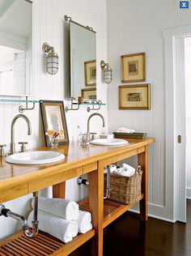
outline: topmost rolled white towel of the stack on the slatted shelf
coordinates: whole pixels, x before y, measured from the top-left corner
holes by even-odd
[[[32,198],[32,207],[34,198]],[[79,205],[73,201],[62,198],[39,198],[39,210],[45,211],[66,220],[78,220]]]

